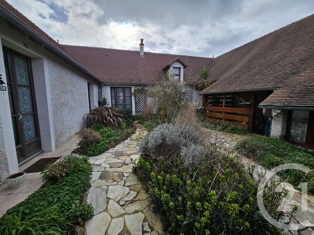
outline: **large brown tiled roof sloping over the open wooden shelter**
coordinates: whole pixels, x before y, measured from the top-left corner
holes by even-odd
[[[314,105],[314,15],[218,56],[211,70],[217,81],[202,94],[280,88],[262,104]]]

